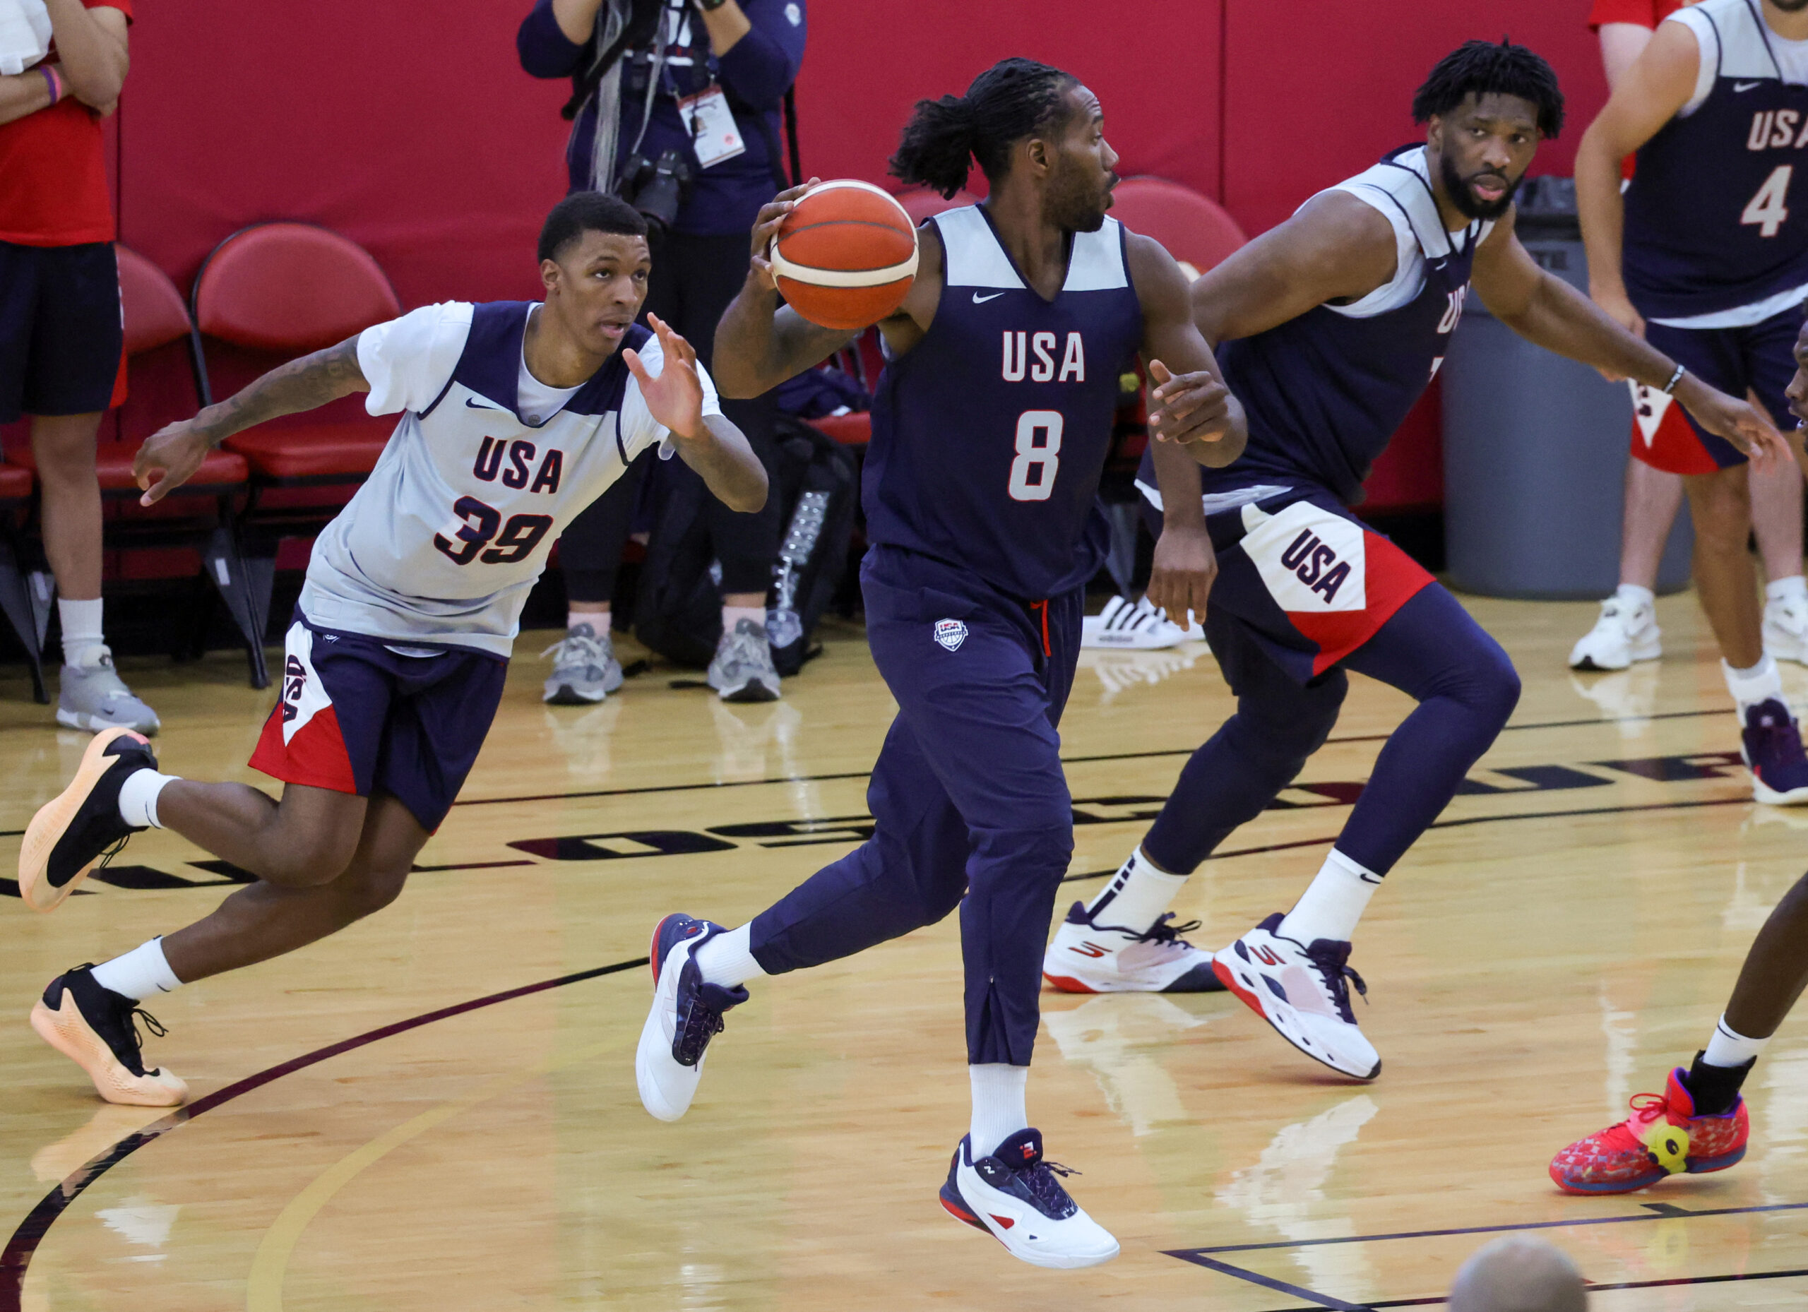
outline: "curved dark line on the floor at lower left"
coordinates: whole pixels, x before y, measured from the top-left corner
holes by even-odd
[[[318,1066],[322,1061],[338,1057],[358,1048],[365,1048],[380,1039],[391,1039],[398,1034],[407,1034],[409,1030],[418,1030],[423,1025],[432,1025],[434,1021],[445,1021],[454,1016],[465,1016],[466,1012],[476,1012],[485,1007],[495,1007],[497,1003],[508,1003],[517,998],[528,998],[530,994],[546,992],[550,989],[562,989],[564,985],[582,983],[586,979],[598,979],[607,974],[620,974],[624,970],[633,970],[647,963],[647,958],[638,956],[633,961],[615,961],[613,965],[598,965],[589,970],[577,970],[573,974],[557,976],[553,979],[541,979],[530,985],[519,985],[515,989],[504,989],[503,992],[485,994],[483,998],[472,998],[470,1001],[452,1003],[450,1007],[441,1007],[432,1012],[423,1012],[419,1016],[410,1016],[401,1021],[391,1021],[389,1025],[380,1025],[374,1030],[365,1030],[363,1034],[354,1034],[349,1039],[340,1039],[338,1043],[329,1043],[324,1048],[315,1048],[313,1052],[304,1052],[300,1057],[289,1057],[275,1066],[266,1066],[260,1072],[246,1075],[244,1079],[233,1081],[224,1088],[219,1088],[206,1097],[195,1099],[184,1108],[177,1108],[161,1120],[154,1120],[143,1129],[136,1129],[125,1139],[118,1140],[107,1151],[89,1158],[74,1173],[71,1173],[61,1184],[58,1184],[51,1193],[38,1200],[38,1204],[25,1213],[25,1218],[13,1229],[7,1238],[5,1249],[0,1251],[0,1312],[22,1312],[25,1298],[25,1274],[31,1269],[31,1258],[36,1254],[38,1245],[51,1232],[51,1225],[56,1218],[69,1211],[69,1205],[80,1198],[90,1184],[107,1175],[112,1167],[119,1166],[137,1149],[152,1144],[174,1129],[181,1129],[195,1117],[206,1115],[213,1108],[224,1106],[233,1099],[264,1088],[284,1075],[293,1075],[298,1070],[309,1066]]]

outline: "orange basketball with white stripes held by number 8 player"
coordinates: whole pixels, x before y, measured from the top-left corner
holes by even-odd
[[[805,192],[772,239],[779,295],[812,323],[862,329],[895,311],[917,276],[917,230],[870,183]]]

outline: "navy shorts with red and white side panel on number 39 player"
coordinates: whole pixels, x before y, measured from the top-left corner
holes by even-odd
[[[438,829],[490,732],[506,672],[490,652],[316,629],[297,609],[282,643],[282,696],[251,768],[334,793],[389,793],[423,829]]]

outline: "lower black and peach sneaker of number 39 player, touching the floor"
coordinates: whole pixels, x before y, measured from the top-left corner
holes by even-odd
[[[188,1097],[188,1084],[181,1075],[161,1066],[145,1070],[137,1017],[145,1019],[145,1028],[155,1037],[166,1034],[157,1017],[136,1001],[101,989],[94,981],[94,965],[85,963],[51,981],[31,1008],[31,1028],[81,1066],[108,1102],[136,1108],[181,1106]]]

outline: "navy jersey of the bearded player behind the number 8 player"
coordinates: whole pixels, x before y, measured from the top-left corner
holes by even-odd
[[[1208,493],[1305,483],[1345,504],[1361,499],[1369,468],[1443,363],[1475,248],[1492,230],[1445,231],[1427,179],[1425,146],[1405,146],[1334,188],[1392,222],[1398,255],[1385,286],[1219,345],[1224,383],[1249,416],[1249,445],[1233,464],[1202,470]],[[1139,483],[1155,488],[1152,455]]]

